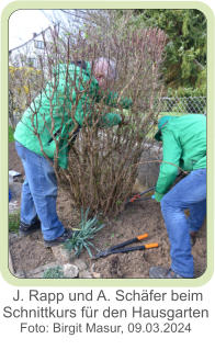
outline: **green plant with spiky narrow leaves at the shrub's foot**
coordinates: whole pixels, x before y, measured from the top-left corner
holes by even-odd
[[[94,247],[94,245],[89,240],[94,237],[95,233],[104,227],[104,225],[98,221],[97,216],[88,219],[88,214],[89,208],[86,213],[81,210],[80,230],[77,230],[76,234],[65,242],[65,248],[69,251],[75,250],[76,256],[79,256],[82,249],[86,248],[89,256],[92,257],[90,248]]]

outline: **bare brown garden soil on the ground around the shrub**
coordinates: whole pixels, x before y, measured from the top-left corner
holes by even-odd
[[[9,144],[9,170],[21,172],[18,181],[22,182],[24,172],[22,163],[14,149],[14,144]],[[73,207],[69,193],[59,190],[57,199],[57,212],[66,227],[78,227],[80,215]],[[151,266],[170,266],[169,240],[160,212],[160,204],[152,201],[134,202],[124,208],[116,217],[106,219],[105,227],[100,230],[94,239],[94,246],[108,249],[137,235],[148,233],[148,238],[139,244],[158,242],[158,248],[137,250],[127,253],[115,253],[98,260],[90,259],[87,251],[80,255],[84,260],[93,278],[102,279],[147,279]],[[52,249],[43,246],[41,233],[31,237],[19,238],[10,234],[9,241],[14,271],[22,271],[23,275],[41,266],[55,261]],[[95,251],[92,250],[94,253]],[[201,276],[206,270],[206,225],[199,232],[197,240],[192,249],[195,264],[195,276]]]

